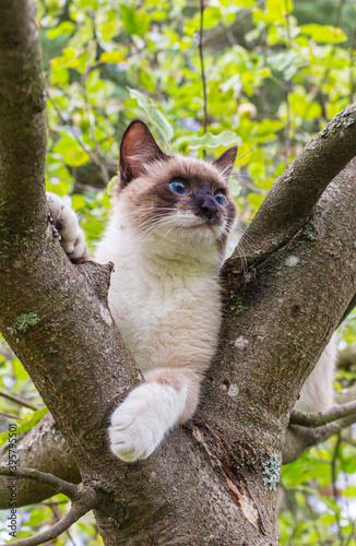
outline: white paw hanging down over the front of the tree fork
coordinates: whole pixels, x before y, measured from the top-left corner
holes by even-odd
[[[185,406],[180,399],[175,389],[158,383],[134,389],[111,415],[112,453],[122,461],[146,459],[177,423]]]

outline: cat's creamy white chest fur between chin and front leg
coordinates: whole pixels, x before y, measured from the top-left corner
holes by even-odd
[[[109,307],[141,370],[205,371],[221,322],[216,258],[215,264],[209,256],[190,259],[189,248],[170,248],[169,259],[162,258],[155,245],[143,251],[140,237],[117,217],[95,258],[115,263]]]

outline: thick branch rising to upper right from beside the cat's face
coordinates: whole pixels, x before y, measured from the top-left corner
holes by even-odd
[[[307,222],[331,180],[355,156],[356,104],[337,114],[274,182],[241,237],[248,264],[261,262]],[[241,273],[238,249],[225,271]]]

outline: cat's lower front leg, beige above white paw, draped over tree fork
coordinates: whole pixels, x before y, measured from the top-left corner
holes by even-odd
[[[110,449],[123,461],[147,458],[165,432],[189,419],[198,405],[202,377],[187,368],[159,368],[146,373],[111,415]]]

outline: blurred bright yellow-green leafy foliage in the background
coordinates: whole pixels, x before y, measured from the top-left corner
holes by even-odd
[[[202,157],[207,150],[213,158],[239,144],[232,190],[244,229],[273,180],[355,96],[354,2],[206,2],[206,133],[198,2],[41,0],[38,9],[48,93],[47,188],[70,195],[90,246],[108,218],[106,187],[118,168],[120,136],[134,117],[150,123],[166,151],[175,146]],[[344,348],[356,343],[355,313],[343,334]],[[355,380],[353,364],[340,370],[336,389]],[[0,385],[43,406],[4,344]],[[2,397],[0,410],[25,419],[27,428],[43,412]],[[281,544],[356,545],[355,461],[355,432],[348,430],[283,468]],[[58,515],[55,506],[24,510],[19,537]],[[84,523],[72,534],[81,544],[99,541]]]

